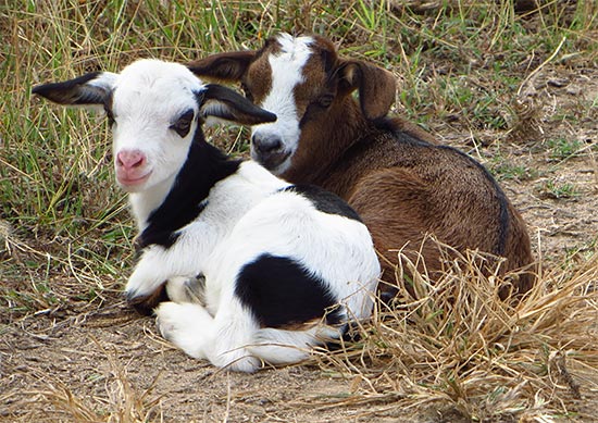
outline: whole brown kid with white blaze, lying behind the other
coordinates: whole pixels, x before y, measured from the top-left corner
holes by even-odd
[[[381,67],[338,57],[321,36],[279,34],[257,51],[216,53],[188,64],[198,76],[239,83],[277,115],[254,126],[251,157],[291,182],[315,184],[348,201],[382,254],[382,294],[396,287],[397,250],[438,275],[447,251],[489,253],[485,271],[520,270],[502,299],[535,282],[530,236],[489,172],[416,125],[387,114],[396,79]],[[352,94],[359,94],[359,103]],[[449,257],[452,257],[449,254]]]

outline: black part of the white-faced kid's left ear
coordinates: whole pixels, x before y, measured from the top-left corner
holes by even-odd
[[[59,104],[102,104],[108,92],[102,88],[85,85],[100,74],[101,72],[91,72],[62,83],[38,85],[32,92]]]

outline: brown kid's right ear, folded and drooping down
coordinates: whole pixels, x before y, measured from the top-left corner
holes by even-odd
[[[377,119],[388,113],[397,91],[395,75],[360,60],[342,60],[338,75],[341,88],[359,89],[359,102],[365,117]]]

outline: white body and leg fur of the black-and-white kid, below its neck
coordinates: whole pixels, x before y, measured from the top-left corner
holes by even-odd
[[[309,347],[319,344],[316,334],[338,337],[338,329],[324,326],[308,332],[258,326],[236,297],[235,281],[245,264],[266,251],[298,260],[323,279],[337,282],[328,288],[348,309],[348,318],[370,315],[379,264],[365,226],[321,213],[296,194],[275,194],[287,185],[246,162],[214,186],[208,207],[175,245],[150,247],[144,253],[127,293],[149,294],[173,275],[205,275],[204,306],[167,302],[155,310],[162,335],[189,356],[254,371],[262,360],[287,364],[304,359]],[[190,325],[189,315],[196,313],[203,316],[201,324]]]

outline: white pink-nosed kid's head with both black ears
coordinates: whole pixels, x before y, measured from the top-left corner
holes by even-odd
[[[201,123],[214,117],[254,125],[276,116],[235,91],[204,85],[187,67],[139,60],[120,74],[96,72],[34,88],[66,105],[105,111],[113,132],[119,185],[129,192],[172,182],[187,159]]]

